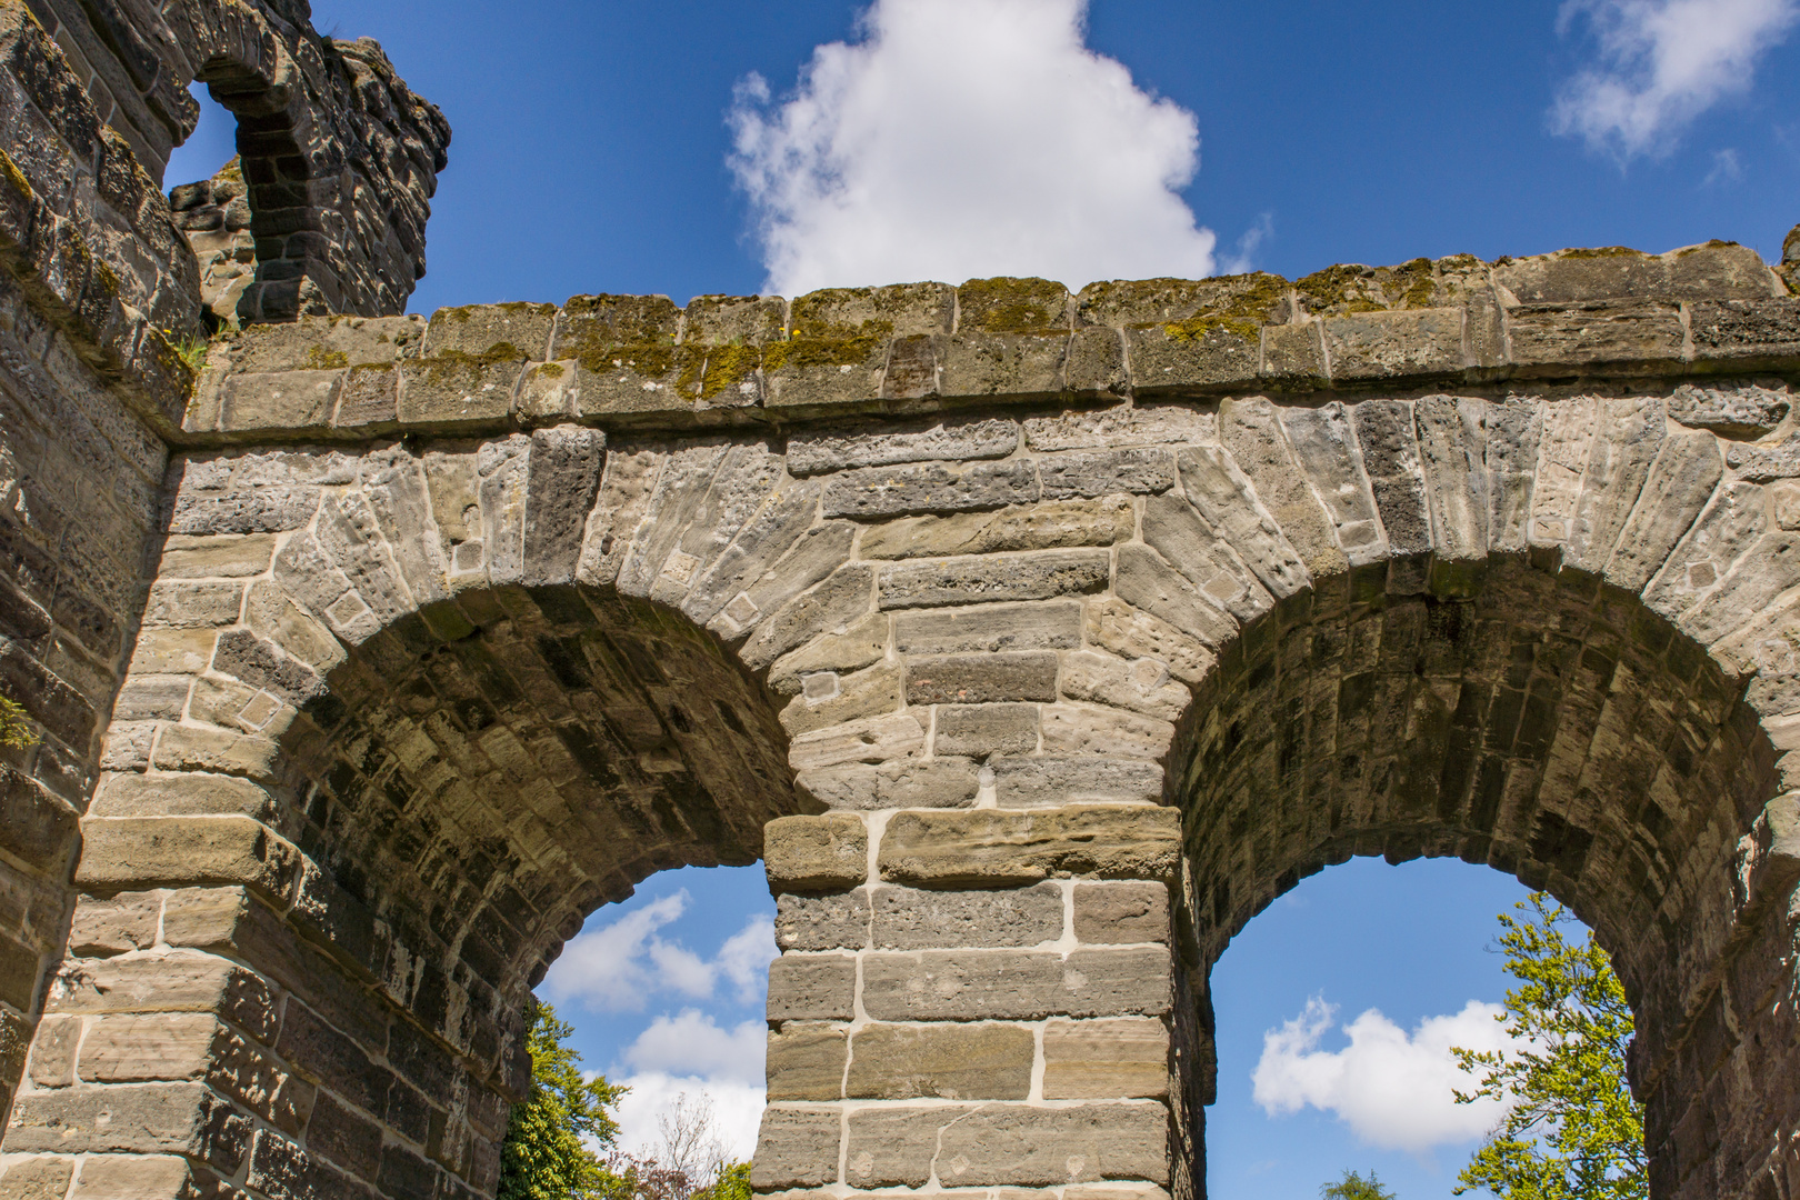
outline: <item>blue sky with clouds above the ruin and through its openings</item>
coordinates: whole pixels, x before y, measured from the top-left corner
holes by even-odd
[[[1800,0],[317,0],[455,130],[416,311],[986,273],[1096,277],[1708,237],[1800,221]],[[1085,13],[1085,23],[1082,16]],[[169,171],[230,155],[212,110]],[[1472,1148],[1444,1047],[1505,990],[1523,896],[1350,864],[1220,961],[1210,1195],[1373,1168],[1447,1196]],[[544,986],[637,1088],[626,1142],[707,1090],[760,1105],[758,869],[596,912]]]

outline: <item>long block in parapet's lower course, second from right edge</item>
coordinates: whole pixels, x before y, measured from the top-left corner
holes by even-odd
[[[1685,335],[1679,309],[1654,300],[1519,308],[1507,315],[1507,333],[1514,367],[1528,376],[1667,371],[1681,362]]]

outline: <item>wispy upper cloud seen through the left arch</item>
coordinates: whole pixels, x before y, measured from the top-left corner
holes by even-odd
[[[769,961],[776,957],[774,918],[752,914],[713,959],[702,959],[659,936],[688,903],[688,892],[680,891],[610,925],[581,930],[551,964],[544,993],[558,1004],[574,1000],[589,1009],[637,1013],[659,993],[704,1000],[724,981],[738,1002],[754,1002],[765,986]]]

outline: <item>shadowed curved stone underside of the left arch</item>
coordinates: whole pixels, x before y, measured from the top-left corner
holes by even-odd
[[[589,912],[666,867],[752,864],[801,811],[772,696],[648,601],[464,592],[324,684],[284,738],[292,837],[333,919],[387,930],[387,995],[452,1045],[470,1013],[513,1040]]]

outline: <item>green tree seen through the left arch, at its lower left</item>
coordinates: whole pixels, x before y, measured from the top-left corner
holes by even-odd
[[[581,1078],[581,1054],[563,1045],[572,1033],[556,1009],[538,1004],[527,1034],[531,1092],[506,1124],[497,1200],[590,1200],[607,1191],[607,1169],[581,1139],[612,1144],[619,1126],[608,1108],[626,1088],[605,1076]]]

